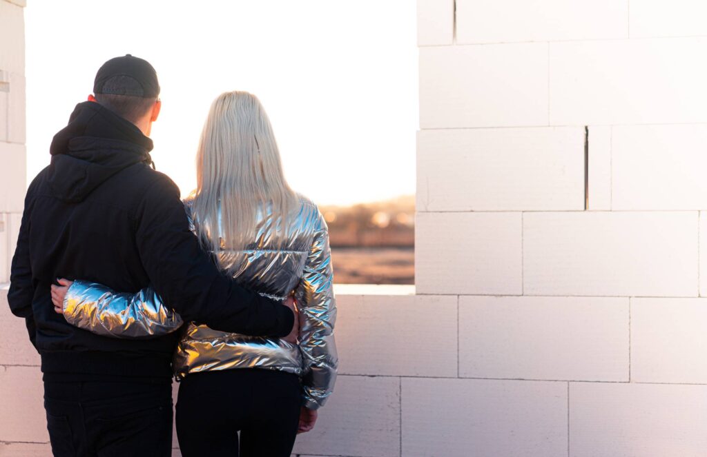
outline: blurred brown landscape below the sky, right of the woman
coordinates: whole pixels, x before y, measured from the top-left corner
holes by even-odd
[[[336,283],[414,284],[414,196],[320,210],[329,225]]]

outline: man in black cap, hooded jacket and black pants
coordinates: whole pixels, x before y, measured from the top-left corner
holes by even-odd
[[[133,292],[151,284],[185,321],[221,331],[283,337],[296,322],[221,275],[189,230],[177,186],[151,167],[161,107],[153,67],[111,59],[93,92],[27,191],[8,302],[41,355],[54,456],[170,456],[176,334],[119,340],[70,326],[52,307],[56,278]]]

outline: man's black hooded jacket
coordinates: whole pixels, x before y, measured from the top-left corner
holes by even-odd
[[[289,309],[236,285],[199,248],[177,186],[150,166],[151,149],[134,124],[83,102],[30,184],[8,302],[27,321],[45,379],[170,376],[177,338],[106,338],[70,326],[52,307],[56,278],[122,292],[152,285],[185,321],[221,331],[285,336],[293,325]]]

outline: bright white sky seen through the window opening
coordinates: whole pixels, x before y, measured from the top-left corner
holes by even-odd
[[[153,159],[186,195],[206,112],[226,90],[267,110],[291,186],[322,204],[415,191],[416,2],[33,0],[25,9],[28,182],[95,72],[124,54],[162,86]]]

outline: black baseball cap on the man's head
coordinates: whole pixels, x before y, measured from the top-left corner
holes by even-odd
[[[126,54],[110,59],[98,69],[93,93],[152,98],[160,95],[160,84],[148,61]]]

